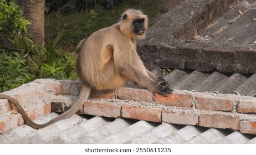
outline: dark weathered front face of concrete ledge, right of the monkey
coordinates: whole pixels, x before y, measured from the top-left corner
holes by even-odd
[[[145,61],[148,68],[153,69],[153,66],[158,66],[198,71],[217,70],[221,73],[256,73],[256,48],[252,44],[208,42],[202,44],[193,40],[190,42],[172,41],[172,43],[158,45],[145,43],[147,48],[156,49],[154,53],[140,45],[140,53],[147,54],[146,58],[142,56],[142,60]]]

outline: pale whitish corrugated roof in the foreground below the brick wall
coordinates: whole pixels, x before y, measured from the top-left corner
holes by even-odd
[[[43,123],[55,116],[57,113],[50,113],[36,122]],[[0,143],[256,143],[256,135],[229,129],[73,115],[39,130],[19,126],[0,135]]]

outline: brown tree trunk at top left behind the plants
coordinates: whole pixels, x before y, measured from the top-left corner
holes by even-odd
[[[28,37],[35,43],[44,45],[44,5],[45,0],[17,0],[24,8],[24,17],[31,23],[28,25]]]

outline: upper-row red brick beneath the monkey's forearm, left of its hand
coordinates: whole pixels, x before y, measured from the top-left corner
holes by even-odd
[[[152,102],[152,99],[153,99],[152,92],[146,89],[121,87],[116,91],[117,91],[117,98],[122,100]]]

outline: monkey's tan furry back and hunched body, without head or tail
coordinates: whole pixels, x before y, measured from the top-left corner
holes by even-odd
[[[126,44],[122,44],[126,43]],[[128,44],[127,44],[128,43]],[[127,79],[119,74],[118,64],[129,58],[117,58],[124,50],[134,46],[131,39],[120,32],[119,24],[100,29],[85,40],[76,61],[76,73],[84,84],[96,90],[116,89]],[[119,60],[119,61],[115,61]],[[95,65],[96,64],[96,65]]]

